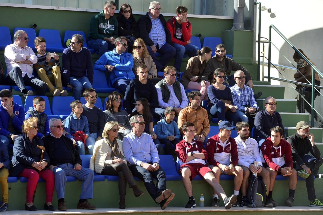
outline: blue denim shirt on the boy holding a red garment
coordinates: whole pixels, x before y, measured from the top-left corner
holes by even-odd
[[[80,116],[79,119],[76,118],[75,114],[69,115],[65,121],[65,131],[66,137],[74,139],[74,134],[77,131],[83,131],[85,134],[89,135],[89,122],[86,116]]]

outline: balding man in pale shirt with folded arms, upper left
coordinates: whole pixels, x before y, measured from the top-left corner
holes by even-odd
[[[27,46],[28,35],[23,30],[14,34],[15,42],[5,47],[5,64],[7,65],[6,83],[17,85],[26,97],[33,92],[25,86],[31,86],[36,90],[36,95],[45,95],[46,83],[33,75],[33,64],[37,63],[37,57],[33,50]]]

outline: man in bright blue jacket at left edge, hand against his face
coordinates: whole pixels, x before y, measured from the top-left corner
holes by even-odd
[[[0,91],[0,141],[6,146],[22,135],[22,122],[25,119],[24,107],[14,103],[12,92],[8,89]]]

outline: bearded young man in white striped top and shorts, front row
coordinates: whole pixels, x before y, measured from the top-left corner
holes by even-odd
[[[249,124],[247,122],[238,122],[235,127],[237,128],[237,132],[239,134],[236,138],[234,138],[238,150],[238,165],[241,166],[243,170],[243,179],[241,184],[241,206],[251,208],[251,203],[246,196],[249,185],[249,175],[256,172],[257,176],[262,177],[266,187],[268,188],[270,184],[269,171],[262,166],[257,141],[249,137]],[[257,167],[254,166],[254,161],[257,161]],[[267,189],[265,207],[272,208],[273,204],[268,200],[268,191],[269,190]]]

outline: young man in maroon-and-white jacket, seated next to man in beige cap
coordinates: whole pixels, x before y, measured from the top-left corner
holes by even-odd
[[[286,200],[287,206],[293,206],[294,194],[297,184],[297,172],[293,170],[292,149],[290,144],[283,139],[283,129],[275,126],[270,129],[270,137],[261,145],[260,157],[263,167],[269,170],[270,184],[268,198],[269,202],[277,207],[278,204],[273,199],[273,189],[277,174],[287,176],[289,197]]]

